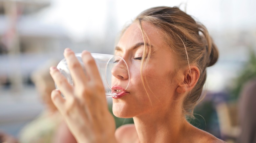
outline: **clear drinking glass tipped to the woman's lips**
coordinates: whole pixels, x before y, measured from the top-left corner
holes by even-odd
[[[96,61],[96,65],[105,88],[106,97],[112,97],[117,95],[117,93],[113,92],[112,87],[115,85],[119,86],[120,80],[118,80],[118,78],[121,78],[122,74],[124,74],[126,78],[125,81],[122,81],[122,88],[124,88],[124,90],[127,89],[130,82],[130,73],[128,70],[128,65],[122,57],[116,56],[116,55],[96,54],[96,53],[92,53],[91,55]],[[84,68],[84,64],[82,62],[81,53],[77,53],[75,54],[75,56],[77,57],[78,61],[82,65],[84,71],[86,71],[86,69]],[[59,64],[57,65],[57,69],[67,78],[68,82],[71,85],[74,84],[65,58],[59,62]],[[120,71],[120,72],[115,72],[115,71]],[[113,75],[113,73],[121,74],[121,75]],[[56,86],[56,88],[58,87]]]

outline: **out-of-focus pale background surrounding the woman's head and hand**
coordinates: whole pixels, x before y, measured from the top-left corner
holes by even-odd
[[[43,110],[31,80],[38,66],[61,60],[66,47],[113,54],[122,27],[156,6],[180,6],[208,28],[220,58],[208,69],[206,96],[190,122],[235,141],[241,90],[256,77],[255,0],[0,0],[0,130],[17,136]]]

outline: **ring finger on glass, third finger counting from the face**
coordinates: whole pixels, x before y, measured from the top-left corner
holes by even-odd
[[[50,68],[50,74],[54,83],[57,85],[65,98],[68,99],[70,96],[72,96],[73,87],[68,83],[65,76],[62,75],[56,67]]]

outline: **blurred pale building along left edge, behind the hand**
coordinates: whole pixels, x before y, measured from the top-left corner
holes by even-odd
[[[0,1],[0,128],[15,136],[43,108],[35,89],[24,87],[31,72],[63,58],[71,45],[64,28],[40,20],[50,6],[50,0]]]

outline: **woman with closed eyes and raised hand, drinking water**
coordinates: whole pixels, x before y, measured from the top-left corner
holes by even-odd
[[[206,28],[179,8],[156,7],[143,11],[121,33],[115,55],[122,56],[130,70],[118,77],[118,96],[113,97],[113,113],[134,119],[134,125],[115,130],[107,109],[105,91],[96,64],[89,52],[82,52],[87,74],[65,49],[74,87],[51,67],[50,73],[64,94],[53,90],[52,100],[64,116],[78,142],[223,142],[186,120],[200,98],[206,67],[218,59],[218,51]]]

